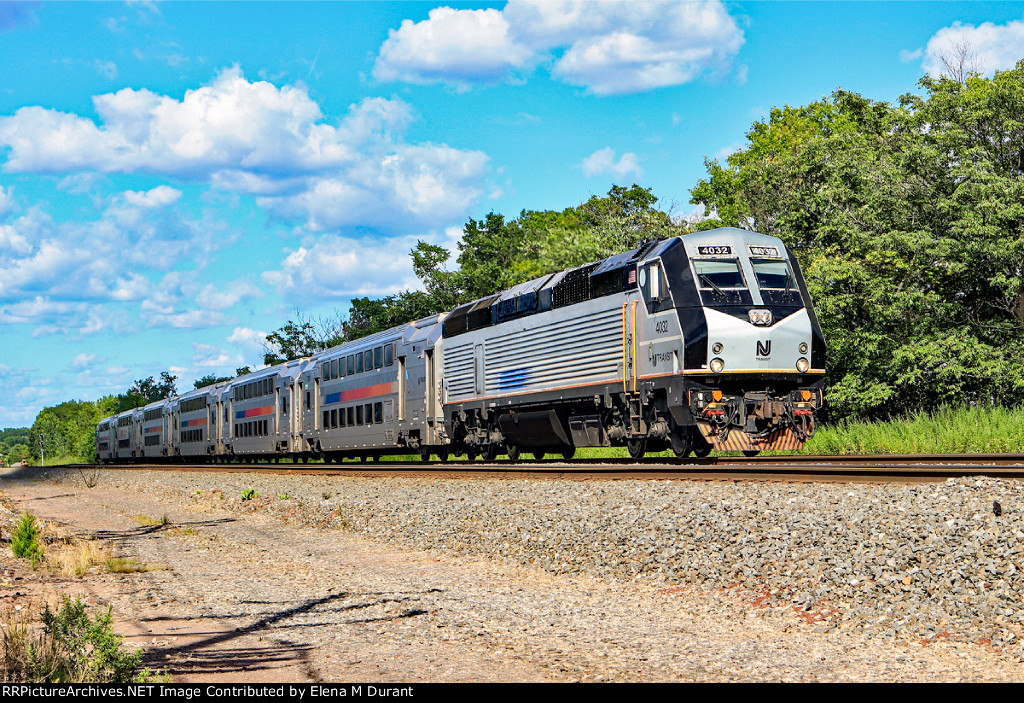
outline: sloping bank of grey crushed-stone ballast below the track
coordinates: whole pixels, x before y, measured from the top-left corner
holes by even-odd
[[[72,474],[50,478],[78,481]],[[742,617],[766,625],[792,622],[795,631],[841,634],[839,647],[851,657],[867,642],[958,643],[990,652],[993,661],[1024,659],[1024,484],[1014,481],[871,485],[108,470],[100,482],[167,506],[251,513],[401,548],[498,560],[566,583],[597,579],[659,594],[714,594],[746,604]],[[243,499],[250,489],[258,495]],[[873,675],[902,679],[899,666],[890,660]],[[927,679],[928,670],[914,675]]]

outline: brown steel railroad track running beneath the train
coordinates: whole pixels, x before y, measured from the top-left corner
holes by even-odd
[[[935,482],[963,476],[1024,479],[1024,454],[871,454],[843,456],[710,456],[541,462],[345,462],[343,464],[69,465],[66,469],[145,469],[319,476],[418,476],[716,481]]]

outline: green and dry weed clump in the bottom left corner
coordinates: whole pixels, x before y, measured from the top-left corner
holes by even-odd
[[[111,608],[90,618],[81,600],[65,596],[57,610],[44,608],[42,627],[28,611],[8,609],[3,630],[3,674],[6,682],[93,684],[145,683],[160,679],[139,670],[140,650],[125,652],[114,633]]]

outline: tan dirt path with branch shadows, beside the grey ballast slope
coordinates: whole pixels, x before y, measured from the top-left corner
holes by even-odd
[[[1021,676],[1019,664],[982,647],[817,632],[792,614],[765,617],[708,591],[400,550],[342,530],[234,515],[147,485],[121,487],[115,472],[92,489],[69,479],[0,479],[18,510],[148,568],[35,586],[23,579],[15,587],[112,604],[126,644],[144,648],[148,665],[174,682]]]

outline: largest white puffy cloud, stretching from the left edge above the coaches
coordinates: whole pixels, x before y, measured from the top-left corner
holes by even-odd
[[[233,68],[180,100],[124,88],[93,105],[98,122],[40,106],[0,118],[4,169],[206,182],[258,195],[271,213],[314,229],[439,226],[461,219],[482,192],[486,156],[408,142],[415,115],[397,98],[366,98],[328,124],[305,88],[250,82]],[[179,196],[162,185],[124,201],[159,208]]]

